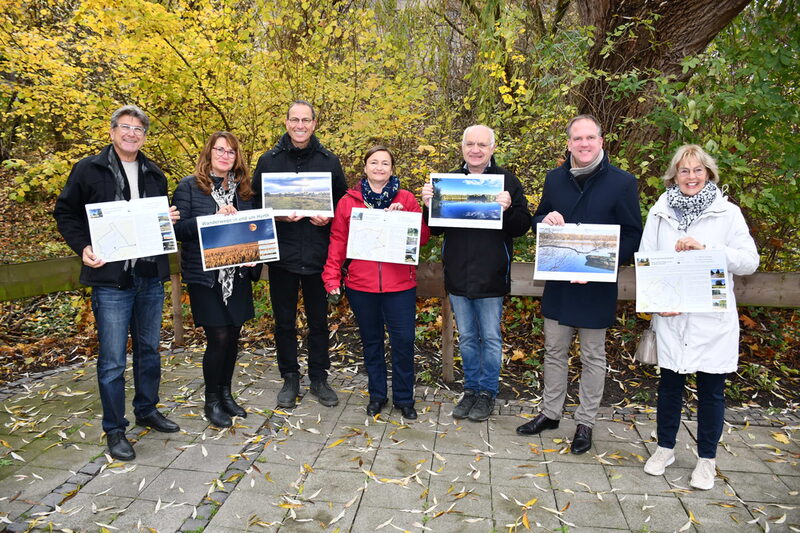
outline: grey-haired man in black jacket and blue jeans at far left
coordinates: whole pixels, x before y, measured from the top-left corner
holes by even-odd
[[[178,425],[156,409],[161,383],[161,313],[164,281],[169,278],[166,255],[106,263],[95,255],[89,235],[86,204],[167,195],[167,179],[140,151],[150,121],[136,106],[111,115],[111,144],[100,154],[78,161],[56,200],[53,215],[58,231],[83,260],[80,281],[92,287],[92,311],[100,353],[97,381],[103,405],[103,430],[111,456],[136,457],[125,437],[125,366],[128,331],[133,339],[136,423],[157,431],[178,431]],[[179,218],[170,209],[170,218]]]

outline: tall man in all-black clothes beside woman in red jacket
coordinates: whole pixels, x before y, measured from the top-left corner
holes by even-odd
[[[330,172],[333,204],[344,196],[347,183],[339,158],[326,150],[314,135],[317,115],[303,100],[289,105],[286,133],[272,150],[258,159],[253,173],[256,205],[263,205],[261,174],[264,172]],[[275,218],[280,260],[269,263],[269,294],[275,320],[275,344],[283,388],[278,405],[295,406],[300,392],[297,363],[297,301],[300,288],[308,320],[308,376],[311,394],[325,406],[339,403],[328,385],[328,306],[322,268],[328,258],[330,218],[287,216]]]

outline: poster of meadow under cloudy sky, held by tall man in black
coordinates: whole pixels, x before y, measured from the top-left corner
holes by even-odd
[[[333,216],[333,179],[330,172],[264,172],[261,198],[276,217]]]

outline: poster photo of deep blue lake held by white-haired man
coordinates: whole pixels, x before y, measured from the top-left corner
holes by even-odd
[[[503,229],[502,174],[431,174],[433,198],[428,225]]]

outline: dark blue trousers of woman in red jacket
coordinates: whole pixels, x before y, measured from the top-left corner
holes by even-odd
[[[417,289],[399,292],[363,292],[346,289],[361,334],[364,366],[369,376],[369,399],[388,397],[384,325],[392,345],[392,403],[414,405],[414,324]]]

